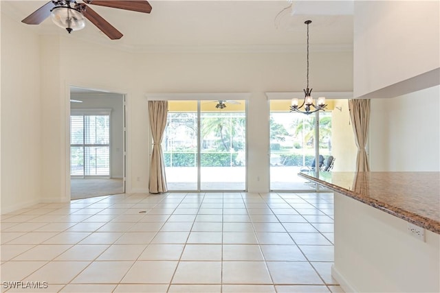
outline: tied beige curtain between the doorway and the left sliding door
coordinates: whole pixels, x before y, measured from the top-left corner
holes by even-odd
[[[148,101],[148,113],[150,115],[151,133],[153,134],[153,152],[151,153],[148,189],[152,194],[158,194],[168,191],[168,187],[166,187],[164,154],[160,145],[166,127],[168,102]]]

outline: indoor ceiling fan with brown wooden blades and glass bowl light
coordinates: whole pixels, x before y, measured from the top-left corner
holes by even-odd
[[[146,0],[83,0],[83,2],[85,3],[77,3],[75,0],[52,0],[32,12],[32,14],[21,22],[28,25],[39,25],[47,19],[47,17],[51,16],[52,21],[54,21],[56,25],[65,28],[70,34],[72,31],[83,29],[85,27],[86,18],[111,38],[111,40],[118,40],[122,38],[122,33],[116,30],[113,25],[92,10],[87,4],[144,13],[151,12],[151,5]]]

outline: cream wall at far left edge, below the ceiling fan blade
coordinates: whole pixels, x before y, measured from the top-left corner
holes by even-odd
[[[41,200],[39,36],[1,14],[1,213]]]

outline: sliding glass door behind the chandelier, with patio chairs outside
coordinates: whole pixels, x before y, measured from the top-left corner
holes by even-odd
[[[310,191],[316,189],[316,185],[298,173],[319,167],[331,156],[331,112],[289,113],[285,110],[289,102],[270,101],[270,189]],[[319,146],[318,158],[316,145]]]

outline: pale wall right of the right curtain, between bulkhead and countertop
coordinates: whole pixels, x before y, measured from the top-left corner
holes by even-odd
[[[370,162],[377,172],[440,171],[440,86],[371,99]]]

